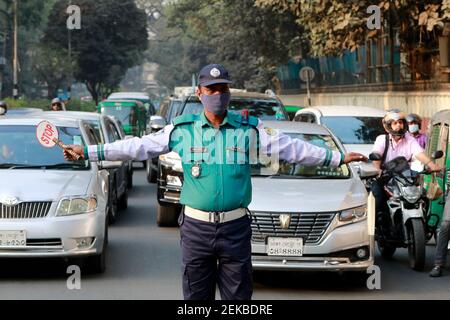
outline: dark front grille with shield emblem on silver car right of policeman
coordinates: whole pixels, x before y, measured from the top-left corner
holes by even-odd
[[[301,237],[304,243],[318,243],[327,231],[336,213],[290,213],[288,229],[282,229],[280,214],[274,212],[252,212],[252,240],[265,242],[266,238]]]

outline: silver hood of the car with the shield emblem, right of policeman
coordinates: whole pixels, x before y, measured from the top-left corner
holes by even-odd
[[[367,202],[358,179],[311,180],[252,178],[249,209],[271,212],[330,212],[355,208]]]

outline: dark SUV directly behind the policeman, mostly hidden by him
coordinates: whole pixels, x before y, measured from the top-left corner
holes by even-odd
[[[203,105],[197,96],[191,95],[183,100],[178,115],[203,112]],[[281,101],[272,95],[254,92],[231,91],[229,112],[242,112],[262,120],[288,121],[289,117]],[[161,155],[158,162],[157,197],[158,211],[156,221],[159,226],[176,225],[180,214],[180,194],[183,185],[183,169],[178,154],[171,152]]]

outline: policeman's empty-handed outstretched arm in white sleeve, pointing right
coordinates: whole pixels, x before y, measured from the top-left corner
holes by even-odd
[[[301,139],[276,130],[264,128],[262,121],[258,124],[261,151],[270,156],[277,156],[280,160],[290,163],[300,163],[310,166],[338,167],[353,161],[367,161],[367,157],[355,152],[341,154],[326,148],[315,146]]]

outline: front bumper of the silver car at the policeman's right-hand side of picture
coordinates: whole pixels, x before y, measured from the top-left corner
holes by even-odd
[[[367,255],[357,258],[361,248]],[[268,256],[265,243],[252,242],[252,265],[255,270],[363,271],[374,264],[374,248],[374,237],[361,221],[331,229],[318,244],[306,244],[301,257]]]

